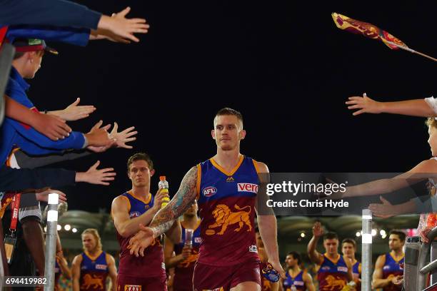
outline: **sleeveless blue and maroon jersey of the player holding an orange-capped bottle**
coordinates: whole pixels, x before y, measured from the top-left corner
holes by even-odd
[[[129,201],[130,218],[136,218],[154,206],[153,195],[150,195],[149,201],[134,197],[131,191],[122,194],[121,197]],[[149,247],[146,247],[144,257],[136,257],[129,254],[127,248],[132,236],[123,238],[118,232],[116,235],[120,244],[119,274],[131,277],[157,277],[166,274],[164,252],[159,238],[156,238]]]

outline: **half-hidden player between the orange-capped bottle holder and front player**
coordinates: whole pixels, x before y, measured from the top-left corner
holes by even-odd
[[[184,213],[181,220],[182,239],[179,243],[167,240],[164,245],[164,261],[166,267],[174,267],[174,291],[192,291],[194,265],[199,257],[200,238],[200,218],[197,216],[197,202]],[[186,239],[186,230],[192,230],[191,246]],[[173,255],[175,252],[175,256]]]

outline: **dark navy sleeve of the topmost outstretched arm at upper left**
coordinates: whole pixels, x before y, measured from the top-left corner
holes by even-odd
[[[65,0],[0,0],[0,24],[97,29],[101,13]],[[1,26],[0,25],[0,26]]]

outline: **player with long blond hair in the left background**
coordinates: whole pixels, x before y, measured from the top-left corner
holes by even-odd
[[[111,278],[112,291],[116,291],[117,269],[114,257],[101,248],[100,235],[94,228],[84,230],[81,235],[84,252],[76,255],[71,270],[73,290],[106,290],[106,277]]]

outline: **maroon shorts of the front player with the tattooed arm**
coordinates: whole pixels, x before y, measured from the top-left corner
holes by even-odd
[[[261,286],[259,262],[249,261],[237,265],[218,267],[196,262],[194,266],[194,291],[228,291],[242,282],[256,282]]]

